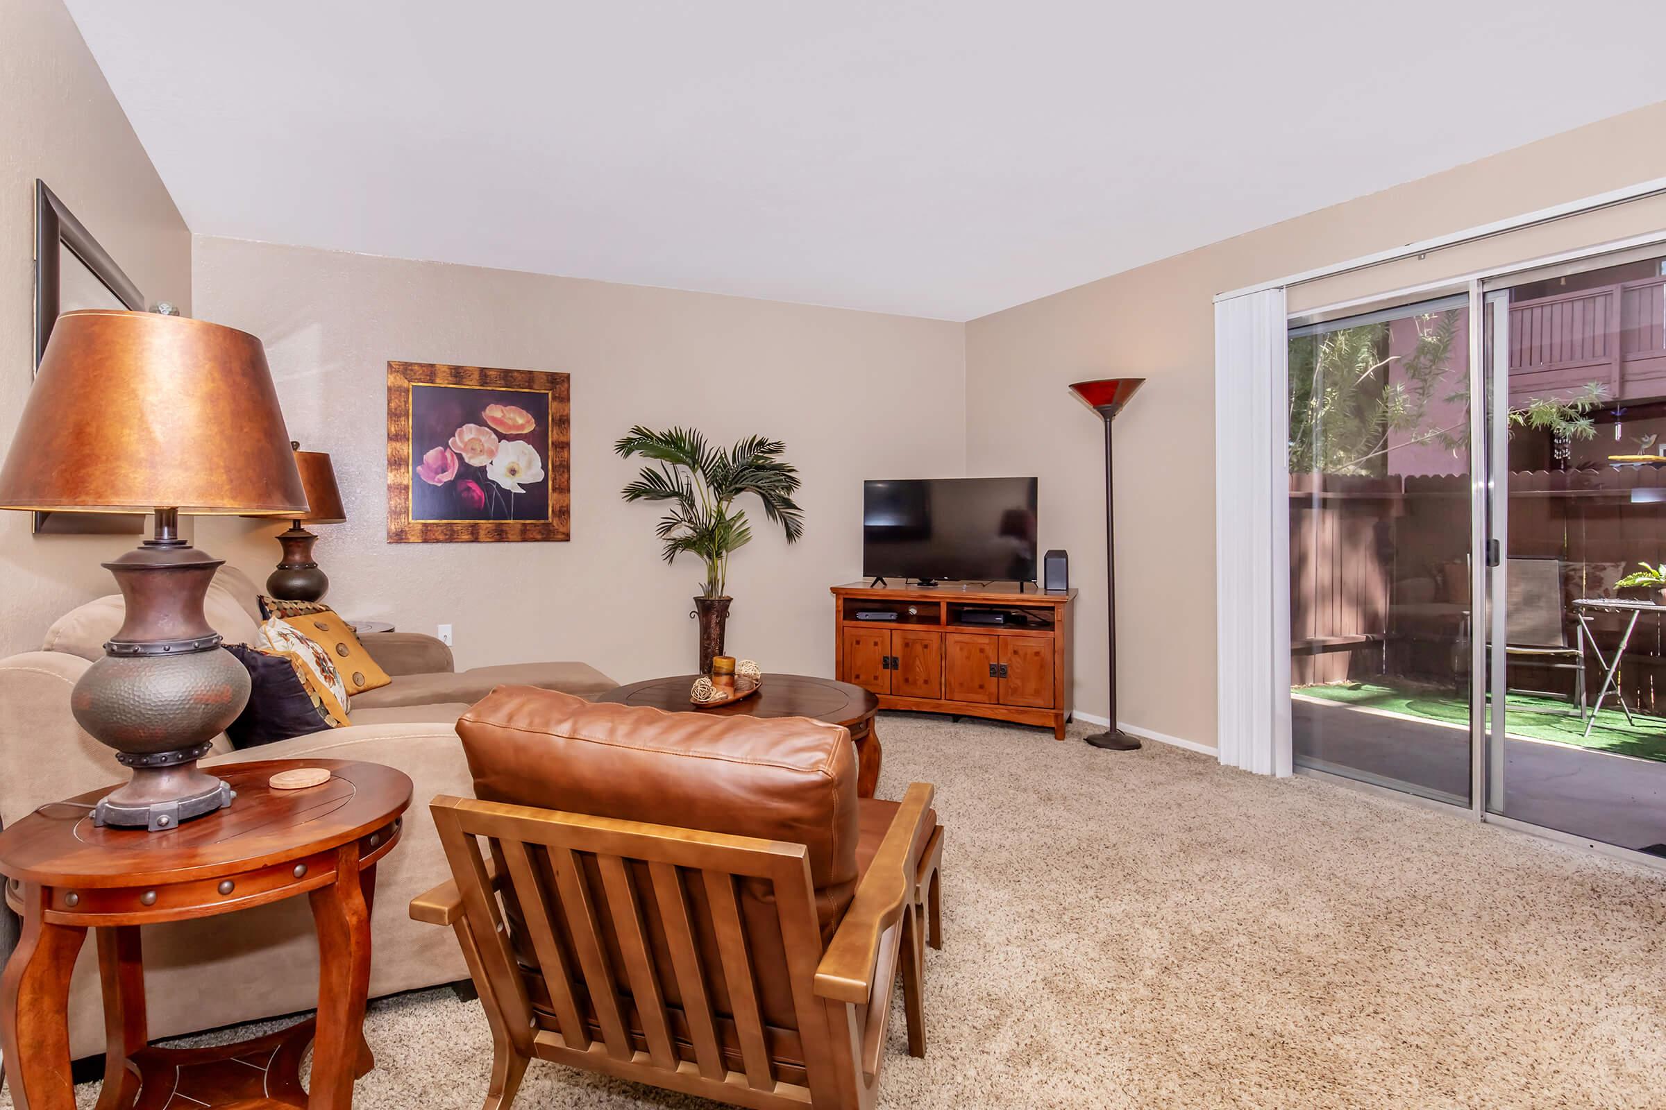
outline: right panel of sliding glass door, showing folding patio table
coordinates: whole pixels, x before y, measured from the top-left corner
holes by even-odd
[[[1666,855],[1666,251],[1488,283],[1486,812]],[[1501,696],[1503,692],[1503,696]]]

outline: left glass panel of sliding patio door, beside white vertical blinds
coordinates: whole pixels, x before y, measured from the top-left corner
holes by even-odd
[[[1294,762],[1468,807],[1469,298],[1288,343]]]

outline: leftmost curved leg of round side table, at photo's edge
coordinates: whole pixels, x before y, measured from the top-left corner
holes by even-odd
[[[23,887],[23,935],[0,975],[0,1052],[17,1110],[75,1110],[70,972],[87,930],[48,925],[45,902],[42,887]]]

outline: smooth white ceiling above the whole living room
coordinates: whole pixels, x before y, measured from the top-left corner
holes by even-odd
[[[1659,0],[68,7],[197,233],[948,320],[1666,98]]]

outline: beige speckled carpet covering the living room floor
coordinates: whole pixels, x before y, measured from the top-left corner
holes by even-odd
[[[948,829],[930,1050],[898,1015],[883,1107],[1666,1107],[1666,875],[1165,746],[880,729],[881,795],[935,780]],[[367,1033],[357,1107],[480,1105],[476,1005]],[[516,1105],[713,1103],[533,1062]]]

